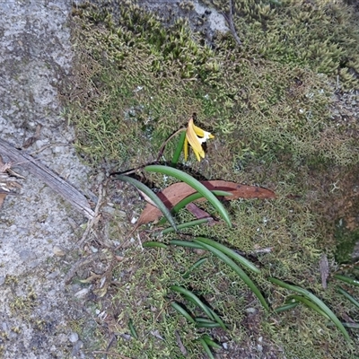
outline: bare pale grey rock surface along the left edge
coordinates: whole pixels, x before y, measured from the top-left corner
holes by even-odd
[[[86,194],[89,171],[74,153],[74,130],[57,99],[57,85],[71,69],[70,6],[0,2],[0,134],[22,148],[40,125],[39,138],[23,151]],[[74,293],[63,280],[79,240],[74,223],[86,219],[24,164],[13,170],[25,180],[21,195],[6,197],[0,211],[0,357],[90,357],[74,331],[84,310],[71,302]]]

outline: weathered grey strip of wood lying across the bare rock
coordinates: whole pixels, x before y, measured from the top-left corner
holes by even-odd
[[[74,186],[70,185],[57,175],[54,171],[49,170],[41,164],[39,160],[31,157],[30,154],[14,148],[11,144],[0,138],[0,153],[8,156],[13,162],[22,163],[28,171],[39,180],[45,182],[49,188],[52,188],[61,197],[66,199],[75,209],[83,213],[87,218],[92,219],[92,211],[88,200]]]

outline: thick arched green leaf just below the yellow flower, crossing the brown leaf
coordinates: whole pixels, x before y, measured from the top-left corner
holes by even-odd
[[[202,183],[194,179],[192,176],[189,176],[187,173],[171,168],[162,166],[159,164],[153,164],[150,166],[144,167],[145,171],[150,172],[159,172],[166,174],[168,176],[172,176],[178,180],[181,180],[188,184],[188,186],[194,188],[197,190],[197,192],[201,193],[203,197],[206,197],[207,201],[212,204],[212,206],[215,207],[215,209],[218,211],[218,213],[222,216],[223,220],[232,227],[230,216],[228,215],[227,211],[223,207],[222,203],[218,200],[218,198],[215,197],[215,195],[206,188]]]

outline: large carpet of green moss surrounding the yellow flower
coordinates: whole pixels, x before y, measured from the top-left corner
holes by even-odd
[[[197,124],[214,132],[215,140],[208,144],[206,161],[191,159],[183,164],[186,171],[200,178],[267,185],[276,188],[277,198],[231,202],[226,206],[235,224],[232,229],[219,223],[187,234],[254,253],[252,259],[263,272],[254,280],[276,307],[285,302],[287,293],[268,285],[267,276],[310,288],[320,297],[327,295],[320,292],[322,232],[315,225],[315,199],[310,198],[311,167],[326,172],[334,165],[358,163],[355,137],[343,134],[329,113],[332,76],[340,70],[346,84],[356,81],[343,62],[351,58],[352,39],[344,39],[343,34],[354,15],[347,14],[347,22],[337,20],[340,29],[324,42],[333,19],[345,8],[322,2],[310,10],[307,7],[314,5],[302,2],[253,0],[236,6],[242,48],[229,33],[217,34],[208,45],[185,20],[163,24],[130,2],[76,9],[72,24],[76,86],[67,92],[71,99],[67,117],[76,127],[79,153],[96,168],[106,164],[120,171],[152,162],[167,136],[196,112]],[[355,38],[355,31],[350,36]],[[347,64],[355,66],[355,61],[353,57]],[[166,147],[163,162],[171,161],[175,144]],[[156,188],[171,182],[160,175],[145,175],[145,180]],[[201,207],[215,215],[211,206]],[[192,216],[181,211],[176,219],[185,222]],[[117,228],[117,223],[111,225]],[[256,254],[258,249],[271,250],[262,256]],[[229,332],[209,332],[220,342],[230,337],[233,346],[241,346],[248,345],[252,335],[263,336],[284,347],[285,355],[323,357],[328,355],[329,337],[330,355],[334,354],[328,357],[353,353],[336,330],[324,326],[320,316],[306,308],[279,318],[261,311],[241,280],[212,256],[184,280],[180,274],[201,258],[192,250],[132,248],[122,255],[127,260],[118,263],[113,274],[119,279],[111,293],[110,320],[119,333],[117,349],[122,355],[180,358],[176,330],[189,357],[202,353],[194,341],[201,332],[169,305],[181,300],[169,291],[174,284],[200,293],[223,316]],[[330,292],[328,304],[336,302]],[[249,325],[249,306],[258,313],[255,328]],[[129,320],[140,340],[129,339]]]

